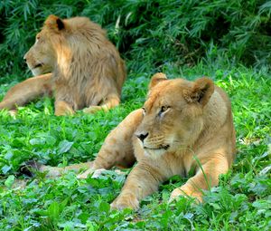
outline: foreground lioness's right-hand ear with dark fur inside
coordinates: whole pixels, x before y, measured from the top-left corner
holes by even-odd
[[[184,98],[188,102],[200,102],[205,105],[214,91],[214,83],[207,77],[202,77],[194,82],[192,91],[186,91]]]

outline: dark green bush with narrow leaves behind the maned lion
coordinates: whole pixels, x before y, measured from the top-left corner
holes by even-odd
[[[271,61],[271,1],[3,0],[0,76],[26,70],[23,53],[49,14],[84,15],[107,28],[130,72],[224,56],[256,67]]]

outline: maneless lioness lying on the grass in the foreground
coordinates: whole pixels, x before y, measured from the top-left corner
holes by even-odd
[[[228,171],[235,158],[235,130],[226,93],[208,78],[195,82],[167,80],[156,73],[149,86],[143,109],[130,113],[107,136],[97,159],[67,168],[39,166],[53,176],[63,171],[89,168],[78,178],[87,178],[99,168],[129,167],[120,195],[112,208],[138,208],[142,198],[157,190],[173,175],[187,177],[179,196],[202,200],[202,190],[218,185],[220,174]]]

